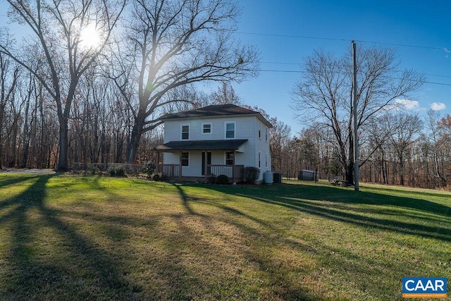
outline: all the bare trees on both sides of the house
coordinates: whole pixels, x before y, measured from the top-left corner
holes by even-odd
[[[208,104],[244,105],[231,82],[258,74],[259,52],[235,39],[230,0],[7,0],[0,29],[0,166],[153,161],[161,117]],[[350,51],[315,50],[291,91],[303,130],[268,118],[273,170],[300,169],[353,183]],[[205,94],[200,82],[220,83]],[[359,167],[364,181],[450,185],[450,116],[406,113],[422,73],[393,49],[357,48]],[[401,99],[401,101],[400,101]]]

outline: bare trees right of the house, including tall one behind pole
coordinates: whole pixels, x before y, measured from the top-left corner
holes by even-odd
[[[356,118],[360,180],[450,188],[450,116],[432,110],[420,116],[404,107],[426,81],[424,74],[402,70],[393,49],[359,47],[354,117],[350,52],[337,57],[320,49],[304,59],[292,89],[292,109],[304,128],[289,138],[289,128],[276,123],[276,169],[290,177],[299,169],[317,170],[353,184]]]

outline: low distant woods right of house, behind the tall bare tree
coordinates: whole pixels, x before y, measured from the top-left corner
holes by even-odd
[[[323,179],[346,179],[332,130],[315,123],[295,137],[283,122],[273,123],[273,171],[296,178],[302,169]],[[386,132],[390,134],[387,135]],[[437,111],[393,111],[359,132],[359,179],[367,183],[451,188],[451,116]]]

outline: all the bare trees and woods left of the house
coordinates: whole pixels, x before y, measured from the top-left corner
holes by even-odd
[[[156,135],[161,116],[195,105],[197,83],[257,74],[257,49],[233,36],[235,1],[7,3],[11,24],[25,37],[16,42],[8,27],[0,30],[6,166],[27,157],[16,152],[19,123],[20,151],[35,151],[27,147],[30,131],[41,139],[40,166],[65,171],[87,157],[123,160],[123,152],[135,163],[142,138]]]

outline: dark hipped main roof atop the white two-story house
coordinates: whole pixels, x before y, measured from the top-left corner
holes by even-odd
[[[204,106],[200,109],[194,109],[190,111],[183,111],[179,113],[172,113],[161,118],[163,121],[168,119],[180,119],[180,118],[208,118],[215,116],[237,116],[237,115],[254,115],[259,116],[262,121],[267,123],[268,127],[272,128],[261,113],[252,111],[250,109],[243,108],[242,106],[235,106],[235,104],[214,104],[211,106]]]

